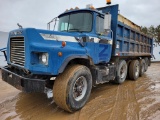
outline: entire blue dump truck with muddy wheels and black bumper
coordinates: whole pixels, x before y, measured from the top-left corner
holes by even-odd
[[[74,112],[86,104],[92,87],[137,80],[151,64],[153,39],[118,7],[66,10],[54,19],[54,31],[11,31],[3,81],[24,92],[52,89],[55,103]]]

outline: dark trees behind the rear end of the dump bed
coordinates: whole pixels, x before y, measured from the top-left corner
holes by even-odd
[[[141,32],[148,34],[155,39],[155,42],[160,43],[160,25],[157,27],[154,27],[153,25],[150,27],[141,26]]]

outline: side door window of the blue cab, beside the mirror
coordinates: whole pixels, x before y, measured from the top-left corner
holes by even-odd
[[[104,18],[97,16],[96,17],[96,33],[100,34],[104,31]]]

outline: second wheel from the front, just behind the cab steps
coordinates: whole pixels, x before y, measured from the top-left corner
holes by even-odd
[[[125,60],[121,60],[118,64],[117,76],[114,83],[121,84],[126,80],[127,77],[127,63]]]

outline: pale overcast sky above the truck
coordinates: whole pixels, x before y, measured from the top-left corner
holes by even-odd
[[[120,14],[139,26],[160,25],[160,0],[111,0]],[[66,9],[106,6],[106,0],[0,0],[0,31],[24,28],[47,29],[47,23]]]

